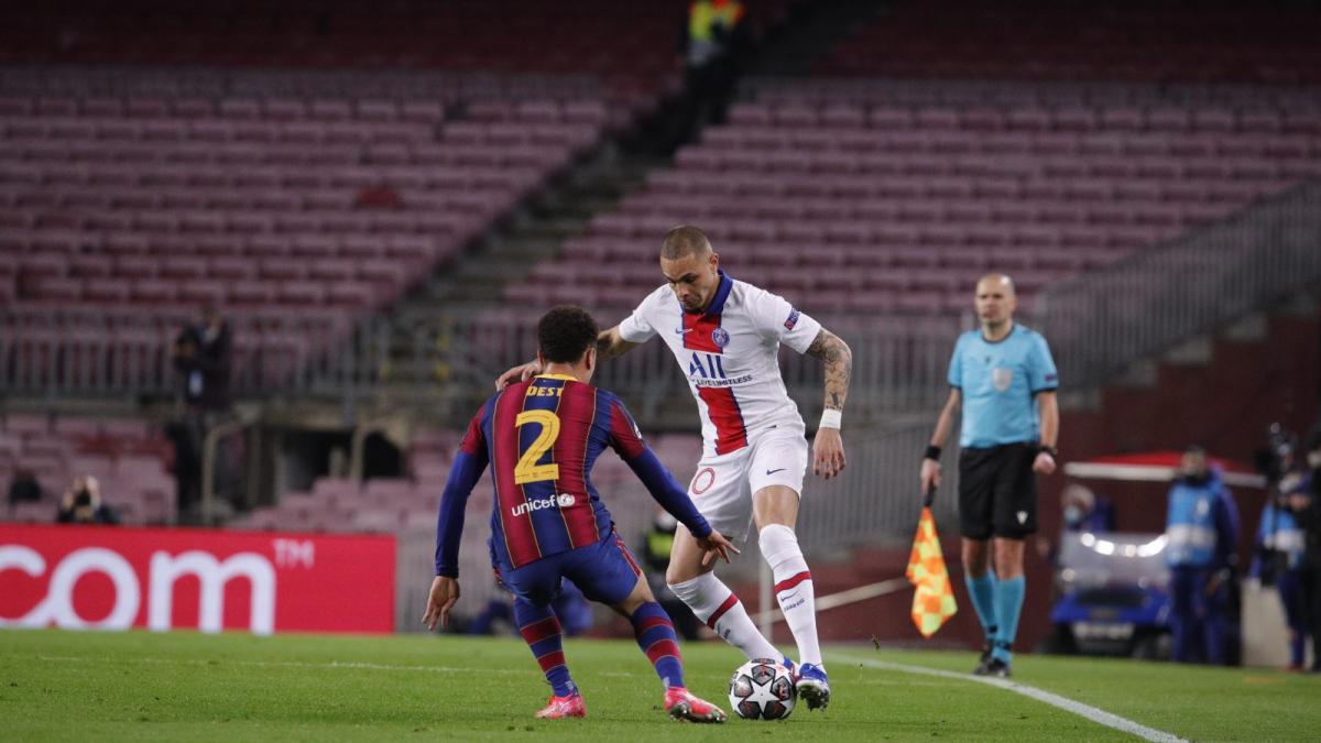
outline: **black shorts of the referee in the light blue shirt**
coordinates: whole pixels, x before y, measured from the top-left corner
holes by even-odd
[[[959,529],[968,539],[1022,539],[1037,531],[1036,443],[959,452]]]

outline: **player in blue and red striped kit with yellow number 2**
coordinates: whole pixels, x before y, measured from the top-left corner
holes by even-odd
[[[491,559],[501,584],[514,594],[514,619],[552,694],[539,718],[584,717],[569,677],[560,624],[550,603],[564,578],[589,599],[633,623],[638,646],[664,686],[670,717],[724,722],[725,713],[688,693],[674,624],[647,587],[637,559],[614,531],[588,473],[613,448],[667,512],[687,526],[707,562],[734,550],[688,498],[683,487],[642,442],[637,424],[613,394],[588,382],[596,370],[596,321],[579,307],[556,307],[538,324],[542,374],[497,393],[473,418],[449,471],[436,526],[436,579],[423,621],[449,623],[458,600],[458,542],[464,505],[491,467]]]

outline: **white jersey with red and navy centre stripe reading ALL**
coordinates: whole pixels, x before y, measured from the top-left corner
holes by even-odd
[[[663,286],[620,323],[620,337],[643,342],[659,334],[670,346],[697,399],[705,456],[712,456],[746,447],[766,428],[803,430],[779,374],[779,344],[804,353],[820,329],[783,297],[721,271],[707,312],[684,312]]]

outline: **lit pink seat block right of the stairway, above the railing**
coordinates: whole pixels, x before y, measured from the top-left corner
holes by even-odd
[[[1321,175],[1316,108],[1050,107],[1016,103],[1032,98],[1024,86],[989,86],[978,107],[865,90],[826,103],[827,85],[795,90],[736,104],[506,296],[542,305],[585,283],[580,301],[629,307],[658,284],[658,237],[692,222],[734,275],[812,311],[959,312],[982,271],[1011,271],[1030,300]]]

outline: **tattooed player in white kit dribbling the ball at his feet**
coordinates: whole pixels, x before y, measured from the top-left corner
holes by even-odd
[[[852,353],[785,299],[721,271],[720,256],[696,227],[666,234],[660,272],[666,284],[622,323],[601,332],[598,357],[617,357],[654,336],[674,352],[701,412],[703,456],[688,494],[711,526],[734,542],[746,539],[750,522],[757,525],[761,554],[774,572],[775,598],[798,644],[798,693],[808,709],[824,707],[830,682],[816,639],[811,572],[794,533],[807,440],[779,374],[778,350],[786,344],[824,362],[826,410],[811,459],[812,471],[826,479],[844,469],[840,416]],[[536,362],[524,364],[495,385],[536,373]],[[680,526],[666,572],[670,588],[748,658],[779,657],[713,568],[715,561],[704,565],[696,539]]]

